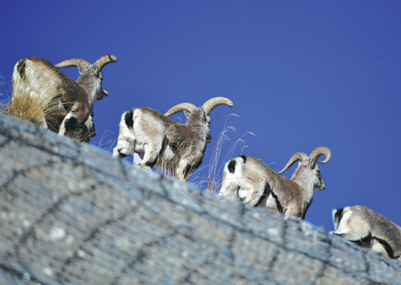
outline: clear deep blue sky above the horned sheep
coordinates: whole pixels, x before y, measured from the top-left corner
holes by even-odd
[[[202,166],[235,113],[220,164],[246,132],[255,136],[244,135],[233,157],[255,156],[275,171],[298,151],[326,146],[327,189],[315,191],[306,220],[333,230],[332,209],[364,204],[401,226],[400,12],[398,1],[7,1],[0,72],[10,80],[27,57],[118,57],[103,70],[110,96],[94,109],[93,142],[103,144],[117,139],[131,108],[164,113],[225,96],[234,106],[212,111]]]

